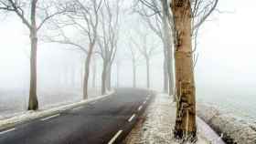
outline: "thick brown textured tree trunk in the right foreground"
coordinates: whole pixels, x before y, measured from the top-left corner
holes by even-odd
[[[189,0],[172,0],[175,22],[176,138],[196,139],[196,99],[191,45],[191,5]]]

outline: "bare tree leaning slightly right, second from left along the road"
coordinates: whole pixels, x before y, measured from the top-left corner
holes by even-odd
[[[70,45],[79,49],[86,55],[83,76],[83,98],[88,98],[88,84],[90,77],[90,64],[93,49],[98,37],[99,16],[102,0],[72,0],[69,5],[69,13],[61,20],[54,21],[58,27],[59,35],[55,38],[48,37],[50,42]],[[65,34],[65,27],[76,29],[82,38],[74,40]],[[77,38],[77,37],[75,37]],[[82,41],[82,42],[80,42]],[[87,43],[87,44],[86,44]]]

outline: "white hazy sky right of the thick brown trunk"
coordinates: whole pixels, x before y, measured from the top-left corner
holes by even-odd
[[[197,91],[255,95],[256,1],[219,1],[219,10],[200,31]],[[231,13],[225,13],[231,12]],[[211,91],[208,91],[209,94]]]

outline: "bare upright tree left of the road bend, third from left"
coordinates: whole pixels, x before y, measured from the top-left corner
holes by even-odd
[[[100,55],[103,60],[103,69],[101,73],[101,94],[106,93],[106,88],[111,89],[112,63],[117,51],[119,38],[119,15],[120,0],[111,2],[105,0],[101,7],[101,30],[102,34],[98,38]]]

